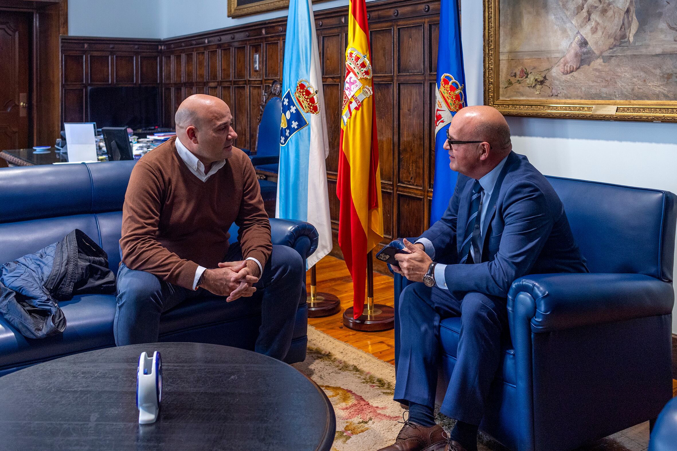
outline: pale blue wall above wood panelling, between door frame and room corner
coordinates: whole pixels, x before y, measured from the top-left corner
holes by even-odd
[[[68,0],[68,34],[160,38],[162,0]]]

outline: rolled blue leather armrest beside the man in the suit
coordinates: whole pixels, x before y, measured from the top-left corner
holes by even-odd
[[[533,302],[531,318],[513,318],[521,293]],[[522,302],[525,297],[520,296]],[[527,297],[528,299],[528,297]],[[529,320],[532,333],[573,329],[672,313],[670,283],[640,274],[559,273],[521,277],[508,293],[513,324]],[[517,321],[515,321],[517,320]]]

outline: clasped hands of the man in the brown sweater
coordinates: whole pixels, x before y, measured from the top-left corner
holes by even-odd
[[[253,295],[259,281],[259,265],[254,260],[219,263],[218,268],[206,269],[200,287],[232,302],[242,296]]]

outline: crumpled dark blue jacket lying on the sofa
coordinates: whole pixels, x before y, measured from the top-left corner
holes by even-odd
[[[58,243],[0,267],[0,314],[29,338],[66,329],[58,301],[84,293],[114,293],[108,255],[75,229]]]

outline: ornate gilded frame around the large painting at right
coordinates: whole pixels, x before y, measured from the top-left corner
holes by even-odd
[[[500,99],[499,3],[500,0],[483,0],[485,105],[493,106],[506,116],[677,122],[677,101]],[[600,106],[615,108],[615,114],[594,112]]]

